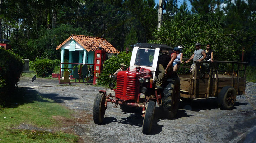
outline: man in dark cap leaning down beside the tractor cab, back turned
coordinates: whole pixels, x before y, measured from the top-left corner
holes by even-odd
[[[163,51],[165,53],[159,55],[157,72],[155,74],[155,88],[162,89],[164,75],[166,75],[168,68],[172,68],[172,63],[177,57],[177,53],[181,52],[181,49],[174,47],[173,50]],[[173,70],[171,69],[173,72]]]

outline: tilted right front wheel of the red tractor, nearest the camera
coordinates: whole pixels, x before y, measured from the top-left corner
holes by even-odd
[[[155,101],[150,100],[146,107],[145,116],[142,124],[142,133],[149,134],[151,132],[152,122],[154,119]]]

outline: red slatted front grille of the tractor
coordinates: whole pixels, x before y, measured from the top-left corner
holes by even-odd
[[[119,96],[135,96],[137,84],[136,77],[118,75],[116,82],[116,94]]]

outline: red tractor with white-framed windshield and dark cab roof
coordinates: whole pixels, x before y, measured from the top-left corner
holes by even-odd
[[[155,74],[157,70],[158,56],[164,50],[172,48],[164,44],[137,43],[133,45],[129,71],[120,71],[117,78],[112,75],[110,78],[116,79],[115,84],[110,83],[109,87],[115,92],[115,96],[106,94],[100,90],[94,99],[93,120],[96,124],[101,124],[104,119],[107,103],[120,105],[122,110],[129,107],[142,108],[142,132],[151,132],[152,121],[156,103],[163,109],[168,109],[174,116],[178,110],[180,101],[180,79],[177,75],[169,72],[164,79],[163,89],[154,87]]]

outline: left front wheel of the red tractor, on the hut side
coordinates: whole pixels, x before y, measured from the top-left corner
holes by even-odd
[[[106,107],[106,97],[103,93],[98,93],[94,99],[93,104],[93,121],[95,124],[101,124],[104,119]]]

